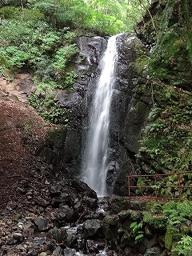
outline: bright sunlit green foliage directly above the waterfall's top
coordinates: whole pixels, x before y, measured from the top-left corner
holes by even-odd
[[[139,0],[128,2],[88,0],[85,2],[94,10],[89,22],[90,27],[100,33],[106,28],[108,34],[133,30],[135,23],[142,18],[142,14],[149,6],[147,0],[142,2]]]

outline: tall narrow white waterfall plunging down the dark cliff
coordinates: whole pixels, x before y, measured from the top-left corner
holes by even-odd
[[[82,181],[98,196],[106,195],[106,175],[109,154],[110,102],[114,88],[117,36],[109,39],[106,52],[100,62],[101,74],[91,102],[86,148],[82,162]]]

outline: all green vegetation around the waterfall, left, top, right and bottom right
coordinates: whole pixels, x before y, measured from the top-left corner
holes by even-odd
[[[30,104],[47,121],[66,125],[66,112],[54,102],[54,90],[71,90],[78,77],[70,65],[78,53],[74,38],[82,34],[110,35],[134,30],[135,22],[146,12],[136,30],[143,37],[146,35],[145,41],[153,47],[149,56],[138,58],[138,63],[143,67],[142,76],[150,74],[146,86],[150,83],[154,108],[136,156],[137,172],[166,174],[190,171],[192,6],[187,0],[160,2],[156,12],[155,8],[148,9],[150,2],[147,0],[2,0],[0,72],[11,80],[19,69],[34,70],[36,91],[29,99]],[[190,181],[190,173],[182,176],[186,185],[192,186]],[[175,176],[166,178],[164,186],[175,182]],[[159,187],[162,197],[175,197],[177,192],[177,189]],[[192,189],[183,192],[182,199],[192,198]],[[151,214],[163,216],[154,219],[151,214],[146,214],[144,221],[154,226],[165,224],[167,248],[171,250],[174,244],[173,250],[179,255],[190,255],[191,203],[173,202],[155,207],[160,210],[151,207],[154,210]],[[189,222],[190,225],[185,224]],[[141,238],[142,233],[138,232],[141,225],[134,223],[132,228],[136,237],[139,235]]]

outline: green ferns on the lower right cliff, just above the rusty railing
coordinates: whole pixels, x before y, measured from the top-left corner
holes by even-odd
[[[154,84],[157,106],[151,110],[140,154],[156,172],[182,172],[191,164],[191,99],[185,91]],[[187,102],[187,104],[186,104]]]

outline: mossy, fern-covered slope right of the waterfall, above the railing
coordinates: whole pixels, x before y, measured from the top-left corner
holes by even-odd
[[[146,174],[190,171],[192,164],[192,4],[174,0],[157,5],[150,9],[153,18],[144,18],[145,24],[139,29],[149,42],[155,42],[150,58],[139,58],[150,74],[154,105],[138,156],[138,162],[142,157],[140,170]],[[190,174],[187,178],[190,186]],[[183,177],[182,182],[187,178]],[[167,185],[169,182],[174,180],[169,178]],[[171,194],[168,190],[166,193]],[[188,198],[190,194],[191,189],[186,189],[183,196]]]

